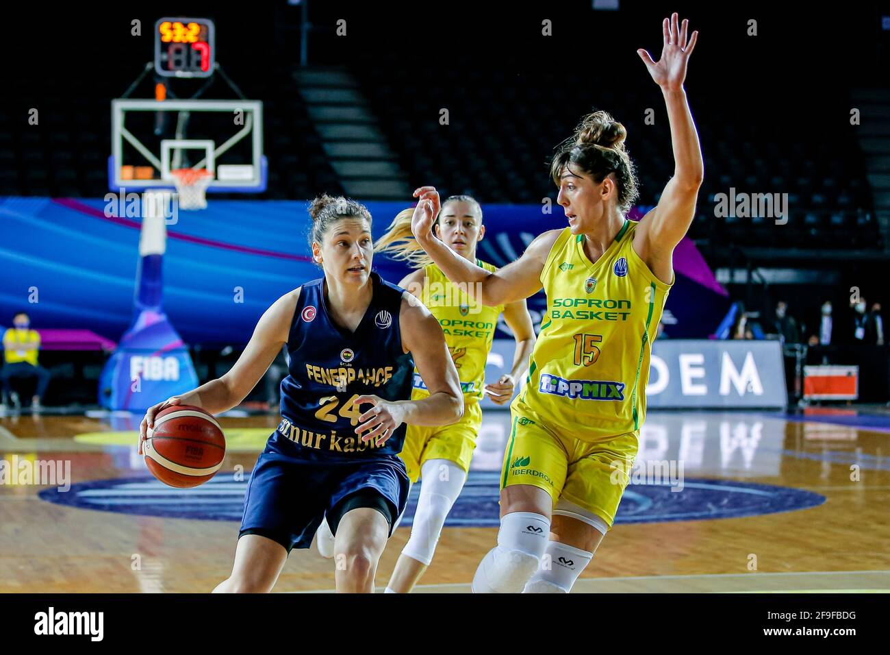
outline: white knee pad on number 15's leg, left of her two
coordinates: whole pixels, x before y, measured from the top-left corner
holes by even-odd
[[[476,569],[473,594],[519,594],[538,569],[550,536],[550,520],[533,512],[512,512],[501,519],[498,546]]]

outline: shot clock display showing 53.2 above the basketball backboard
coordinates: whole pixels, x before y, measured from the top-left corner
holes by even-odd
[[[207,78],[214,72],[214,21],[162,18],[155,23],[155,70],[168,78]]]

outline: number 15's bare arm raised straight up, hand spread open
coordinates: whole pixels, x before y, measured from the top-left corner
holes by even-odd
[[[704,176],[699,135],[683,86],[689,56],[699,37],[697,31],[692,32],[687,41],[688,28],[689,20],[678,25],[675,13],[662,23],[664,48],[661,59],[652,61],[648,52],[637,51],[665,98],[674,149],[674,176],[661,192],[658,206],[640,221],[636,231],[640,238],[634,245],[652,273],[665,282],[672,278],[672,255],[676,244],[692,224],[695,201]]]

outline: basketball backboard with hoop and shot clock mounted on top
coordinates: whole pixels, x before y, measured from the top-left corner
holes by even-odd
[[[175,189],[179,209],[198,209],[205,192],[265,191],[263,102],[247,100],[224,75],[219,81],[237,100],[200,97],[218,67],[214,21],[193,14],[166,16],[154,22],[154,37],[144,47],[150,44],[154,97],[111,101],[109,190],[123,197]],[[131,91],[143,77],[144,69]],[[221,87],[214,85],[213,91]]]

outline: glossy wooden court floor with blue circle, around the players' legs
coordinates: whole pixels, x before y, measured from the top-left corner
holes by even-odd
[[[467,593],[495,544],[509,415],[490,414],[473,487],[417,592]],[[141,418],[0,418],[0,592],[209,592],[228,577],[243,488],[278,416],[223,417],[223,471],[191,495],[150,479],[134,453]],[[55,486],[34,484],[51,466]],[[578,593],[890,589],[888,417],[651,412],[638,466]],[[378,591],[408,536],[408,527],[392,536]],[[295,550],[275,591],[329,591],[333,581],[332,561]]]

